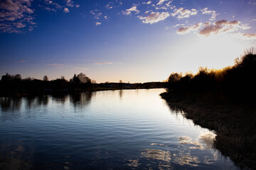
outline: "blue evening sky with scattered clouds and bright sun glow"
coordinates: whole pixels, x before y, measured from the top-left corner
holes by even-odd
[[[255,42],[256,0],[0,0],[1,75],[164,81]]]

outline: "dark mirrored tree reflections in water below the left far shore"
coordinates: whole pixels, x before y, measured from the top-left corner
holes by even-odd
[[[37,108],[40,106],[48,106],[49,101],[64,104],[67,101],[73,104],[75,108],[83,108],[87,106],[91,99],[93,92],[81,92],[70,94],[54,94],[42,96],[24,96],[24,97],[1,97],[0,105],[2,112],[14,113],[21,111],[21,106],[25,109]]]

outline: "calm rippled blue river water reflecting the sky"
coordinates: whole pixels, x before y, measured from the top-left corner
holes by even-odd
[[[0,169],[237,169],[161,92],[1,98]]]

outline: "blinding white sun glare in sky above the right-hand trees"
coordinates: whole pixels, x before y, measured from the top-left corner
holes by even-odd
[[[174,55],[174,66],[178,72],[198,72],[198,67],[222,69],[234,64],[234,60],[242,55],[245,44],[228,37],[198,38],[186,42],[186,47]]]

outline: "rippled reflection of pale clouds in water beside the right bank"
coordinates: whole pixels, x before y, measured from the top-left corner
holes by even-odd
[[[140,153],[140,157],[134,160],[128,160],[127,166],[147,167],[149,169],[176,169],[179,166],[196,167],[199,164],[213,164],[218,156],[213,148],[213,140],[215,135],[211,132],[202,133],[195,140],[191,137],[178,137],[178,147],[175,150],[170,150],[168,145],[151,143],[151,149],[144,149]],[[198,154],[194,149],[206,150],[212,149],[208,154]],[[195,152],[193,152],[195,151]],[[144,159],[148,161],[145,162]],[[153,162],[154,164],[150,163]]]

